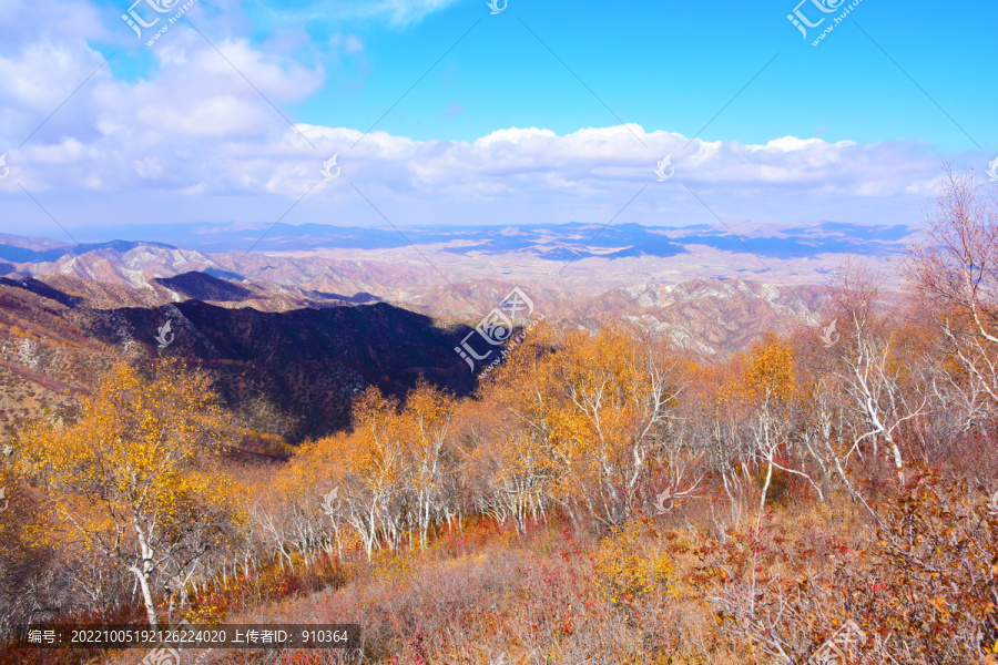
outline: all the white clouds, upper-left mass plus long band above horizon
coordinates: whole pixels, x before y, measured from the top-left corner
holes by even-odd
[[[10,16],[47,37],[19,38],[0,53],[0,153],[20,144],[103,59],[84,39],[67,37],[71,27],[60,22],[59,12],[34,16],[24,0],[6,1]],[[448,3],[346,2],[340,10],[405,22]],[[82,34],[100,35],[85,11],[90,6],[79,7]],[[0,19],[0,34],[9,30],[10,21]],[[50,33],[60,39],[52,41]],[[338,153],[340,178],[318,186],[310,198],[343,203],[354,195],[349,183],[356,183],[404,212],[422,206],[422,216],[436,222],[455,222],[483,206],[489,216],[521,222],[610,218],[645,185],[648,192],[630,208],[635,213],[705,214],[691,203],[684,184],[709,196],[726,217],[831,218],[843,211],[873,216],[920,206],[947,157],[916,142],[860,145],[795,136],[761,144],[704,142],[635,124],[564,135],[507,127],[475,141],[297,125],[310,145],[271,103],[283,108],[308,100],[324,83],[322,66],[309,69],[244,39],[215,43],[232,64],[196,32],[179,28],[150,51],[156,63],[152,73],[123,80],[113,76],[112,66],[102,68],[22,150],[10,150],[11,176],[0,192],[14,193],[21,183],[31,191],[59,191],[64,198],[91,192],[170,194],[196,219],[207,195],[296,200],[322,181],[322,163]],[[354,34],[335,37],[333,45],[364,58],[364,43]],[[459,110],[455,103],[446,113]],[[666,154],[675,177],[660,184],[652,170]],[[247,212],[253,211],[233,209],[231,218]]]

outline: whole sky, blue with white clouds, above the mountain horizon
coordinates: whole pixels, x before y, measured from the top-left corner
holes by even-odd
[[[917,224],[943,162],[998,156],[998,6],[862,0],[811,45],[847,4],[805,40],[794,1],[197,0],[150,47],[129,2],[0,0],[0,231]]]

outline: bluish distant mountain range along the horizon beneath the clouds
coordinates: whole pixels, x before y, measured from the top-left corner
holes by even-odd
[[[732,233],[734,231],[737,235]],[[464,256],[528,253],[551,262],[588,257],[670,257],[702,245],[723,252],[753,252],[774,258],[803,258],[818,254],[884,255],[898,252],[912,236],[902,225],[866,226],[839,222],[773,226],[743,223],[729,231],[720,225],[695,224],[651,227],[640,224],[595,225],[582,223],[528,226],[438,226],[421,228],[345,227],[323,224],[234,225],[171,224],[89,227],[74,229],[88,238],[81,246],[59,248],[64,254],[109,248],[126,252],[130,243],[105,242],[109,237],[131,237],[149,244],[187,247],[206,254],[230,252],[307,252],[316,249],[398,249],[441,246]],[[0,242],[2,236],[0,236]],[[744,244],[743,244],[744,242]],[[747,246],[747,247],[746,247]],[[21,247],[18,247],[21,248]],[[12,263],[51,262],[62,254],[45,248],[35,254],[0,247],[0,259]]]

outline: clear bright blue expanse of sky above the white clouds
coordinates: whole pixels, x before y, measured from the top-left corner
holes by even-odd
[[[364,39],[370,73],[343,68],[338,84],[295,108],[296,116],[366,127],[481,18],[469,10],[483,4],[455,3],[409,29],[350,25]],[[998,7],[968,2],[944,12],[915,3],[897,16],[890,4],[865,0],[854,19],[971,136],[994,143],[989,110],[998,102],[998,76],[989,84],[994,38],[986,31]],[[778,53],[704,139],[764,143],[791,134],[976,147],[855,25],[846,22],[813,48],[784,19],[787,9],[786,2],[746,11],[731,2],[512,0],[501,14],[482,19],[379,126],[414,139],[467,141],[507,126],[567,133],[615,124],[526,23],[619,117],[646,130],[692,136]],[[332,24],[318,23],[313,43],[327,40]],[[445,117],[451,104],[460,115]]]

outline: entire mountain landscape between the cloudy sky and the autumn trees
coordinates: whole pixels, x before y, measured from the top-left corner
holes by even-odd
[[[832,223],[742,237],[637,224],[131,232],[151,239],[0,234],[0,431],[42,407],[65,417],[115,358],[162,354],[211,371],[259,437],[322,436],[368,385],[472,390],[455,347],[513,287],[553,325],[621,320],[711,362],[817,325],[845,257],[889,265],[913,238]]]

